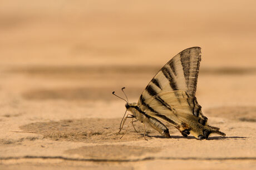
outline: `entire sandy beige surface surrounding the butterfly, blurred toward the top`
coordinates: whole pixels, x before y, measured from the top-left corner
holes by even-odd
[[[253,1],[0,3],[0,169],[255,169]],[[202,48],[196,97],[226,137],[163,138],[136,102],[179,51]],[[128,121],[127,121],[128,122]],[[127,123],[124,128],[127,127]]]

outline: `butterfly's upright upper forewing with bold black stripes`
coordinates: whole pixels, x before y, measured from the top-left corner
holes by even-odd
[[[185,49],[166,63],[142,92],[139,104],[141,104],[142,100],[149,99],[155,95],[150,94],[151,89],[156,94],[181,90],[186,91],[191,97],[195,96],[201,61],[200,49],[200,47]]]

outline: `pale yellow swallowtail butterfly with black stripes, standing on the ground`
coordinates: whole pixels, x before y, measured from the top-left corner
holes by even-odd
[[[210,133],[225,136],[218,127],[208,125],[208,118],[203,115],[196,100],[200,61],[200,47],[185,49],[161,68],[146,86],[137,103],[129,103],[124,93],[127,99],[126,111],[131,112],[130,116],[135,118],[135,121],[144,124],[144,137],[147,124],[162,136],[169,138],[169,129],[163,122],[173,125],[185,137],[191,134],[203,140],[207,139]],[[114,93],[113,91],[112,94]],[[126,120],[124,117],[120,131]]]

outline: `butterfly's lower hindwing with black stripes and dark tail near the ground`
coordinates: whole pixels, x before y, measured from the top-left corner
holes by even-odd
[[[208,138],[210,133],[220,132],[218,127],[209,126],[207,117],[201,112],[196,97],[186,91],[168,91],[156,94],[143,101],[140,109],[147,115],[163,120],[176,127],[183,136],[190,133],[196,138]]]

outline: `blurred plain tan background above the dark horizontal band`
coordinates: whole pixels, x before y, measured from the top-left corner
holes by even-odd
[[[1,66],[163,65],[199,46],[204,67],[255,67],[255,1],[1,1]]]

